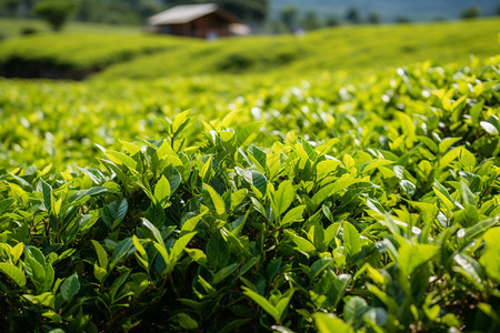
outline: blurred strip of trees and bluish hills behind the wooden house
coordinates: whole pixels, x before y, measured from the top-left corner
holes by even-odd
[[[144,27],[151,16],[174,6],[194,3],[218,4],[243,20],[253,33],[309,31],[340,24],[471,19],[500,13],[498,0],[0,0],[0,17],[16,19],[7,20],[0,33],[8,37],[22,31],[44,31],[33,19],[43,17],[41,7],[47,6],[58,7],[60,16],[67,12],[71,22]]]

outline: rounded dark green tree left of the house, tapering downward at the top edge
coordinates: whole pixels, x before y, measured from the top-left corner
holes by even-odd
[[[42,0],[34,6],[34,13],[46,20],[53,31],[59,31],[76,9],[77,2],[71,0]]]

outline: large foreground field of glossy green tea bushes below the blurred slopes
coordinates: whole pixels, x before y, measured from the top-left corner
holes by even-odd
[[[494,42],[343,74],[1,79],[0,331],[499,331]]]

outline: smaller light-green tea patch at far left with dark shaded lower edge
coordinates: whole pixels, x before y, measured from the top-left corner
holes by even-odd
[[[12,71],[18,70],[20,74],[17,77],[23,77],[23,71],[40,67],[63,71],[68,73],[69,79],[82,79],[110,64],[128,61],[141,54],[172,50],[181,46],[189,48],[191,44],[197,43],[173,37],[140,33],[40,33],[2,42],[0,74],[12,77]]]

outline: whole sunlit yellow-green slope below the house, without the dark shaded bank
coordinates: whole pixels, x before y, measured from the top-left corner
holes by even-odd
[[[214,73],[308,73],[380,69],[411,62],[464,61],[500,53],[499,19],[404,26],[341,27],[293,36],[217,42],[136,33],[40,34],[0,43],[0,64],[12,57],[79,69],[104,68],[102,79],[151,79]],[[50,46],[48,48],[47,46]],[[148,50],[168,49],[138,57]]]

